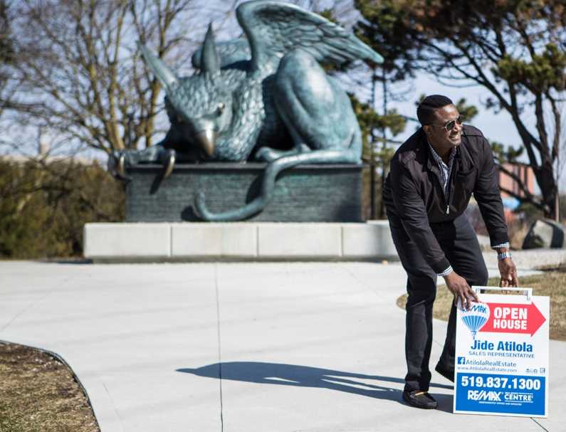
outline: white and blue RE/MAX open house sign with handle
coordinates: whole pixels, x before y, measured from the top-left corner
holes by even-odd
[[[454,413],[547,417],[550,297],[472,289],[480,302],[458,304]]]

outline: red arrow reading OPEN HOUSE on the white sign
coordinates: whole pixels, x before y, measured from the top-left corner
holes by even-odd
[[[480,332],[528,333],[532,337],[546,321],[534,302],[530,305],[509,303],[488,303],[488,305],[489,318]]]

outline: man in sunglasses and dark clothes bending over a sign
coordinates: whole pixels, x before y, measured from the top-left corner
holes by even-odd
[[[444,351],[436,372],[454,381],[456,304],[478,300],[471,285],[486,285],[488,270],[476,233],[463,213],[471,194],[498,253],[501,287],[518,286],[509,252],[503,203],[491,147],[481,131],[463,125],[449,98],[432,95],[416,110],[421,128],[395,153],[383,189],[393,242],[407,272],[407,376],[403,399],[434,409],[428,393],[432,305],[436,277],[454,295]]]

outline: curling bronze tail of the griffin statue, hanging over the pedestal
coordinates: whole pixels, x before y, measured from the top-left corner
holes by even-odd
[[[295,167],[299,164],[357,164],[362,156],[362,136],[358,128],[354,132],[352,143],[345,150],[315,150],[308,153],[283,156],[270,162],[263,173],[260,194],[250,203],[239,209],[226,211],[224,213],[212,213],[206,209],[205,197],[202,192],[196,196],[195,208],[204,221],[243,221],[258,214],[266,208],[273,199],[273,191],[278,174],[285,169]]]

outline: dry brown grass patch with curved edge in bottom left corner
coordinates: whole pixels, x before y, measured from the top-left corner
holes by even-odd
[[[51,355],[0,342],[0,431],[100,432],[82,387]]]

